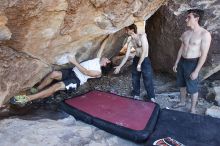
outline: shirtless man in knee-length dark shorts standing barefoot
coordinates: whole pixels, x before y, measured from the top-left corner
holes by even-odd
[[[196,112],[198,101],[198,74],[205,63],[210,43],[210,33],[199,23],[203,15],[202,10],[187,11],[186,23],[190,28],[180,38],[182,45],[179,49],[173,71],[177,72],[177,85],[180,87],[180,102],[173,108],[186,105],[187,92],[191,95],[191,113]]]

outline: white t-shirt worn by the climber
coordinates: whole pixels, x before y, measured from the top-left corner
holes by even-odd
[[[82,62],[82,63],[80,63],[80,65],[83,66],[87,70],[94,70],[94,71],[100,71],[101,72],[100,58],[95,58],[95,59],[92,59],[92,60]],[[79,78],[80,85],[87,82],[87,80],[90,79],[90,78],[95,78],[95,77],[87,76],[87,75],[81,73],[78,70],[77,67],[74,67],[73,71],[75,72],[76,76]]]

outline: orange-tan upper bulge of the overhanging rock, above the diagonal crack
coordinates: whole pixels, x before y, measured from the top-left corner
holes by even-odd
[[[163,1],[18,0],[1,9],[12,32],[7,45],[55,64],[76,51],[80,60],[93,57],[106,35],[146,20]]]

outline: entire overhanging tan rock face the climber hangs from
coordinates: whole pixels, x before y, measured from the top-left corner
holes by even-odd
[[[104,55],[112,57],[120,51],[123,40],[120,30],[147,20],[164,2],[1,0],[0,45],[7,46],[1,47],[5,52],[0,57],[1,101],[39,82],[52,65],[68,63],[69,54],[77,53],[78,61],[95,57],[106,37],[109,40]],[[21,56],[15,62],[4,62],[7,57],[13,58],[13,54]],[[2,67],[5,65],[8,68]]]

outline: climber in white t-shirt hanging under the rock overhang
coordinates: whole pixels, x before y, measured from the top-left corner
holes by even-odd
[[[101,58],[101,53],[104,49],[105,44],[106,39],[102,43],[102,46],[97,54],[97,58],[95,59],[78,63],[75,56],[70,56],[69,62],[75,65],[74,68],[51,72],[37,87],[36,90],[40,92],[28,96],[14,96],[10,99],[10,103],[24,105],[27,102],[35,99],[46,98],[60,90],[75,91],[77,87],[83,85],[85,82],[87,82],[89,78],[101,77],[101,67],[106,67],[110,63],[110,60],[108,58]],[[55,83],[47,89],[42,90],[50,83],[52,83],[53,80],[57,80],[58,83]]]

